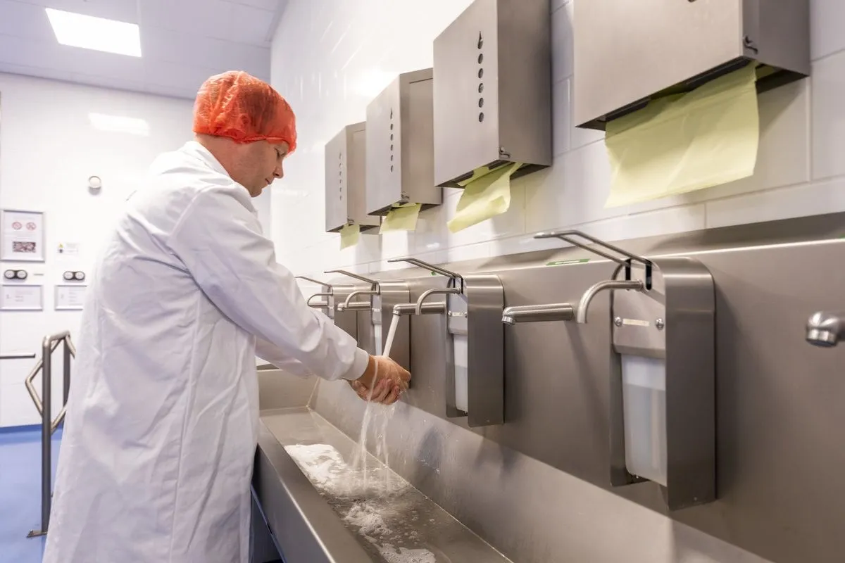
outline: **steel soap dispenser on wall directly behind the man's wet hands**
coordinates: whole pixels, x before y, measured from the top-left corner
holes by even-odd
[[[394,306],[407,303],[411,299],[411,291],[408,289],[407,282],[401,280],[379,281],[346,270],[329,270],[326,273],[341,273],[368,284],[368,289],[355,290],[346,295],[346,300],[338,304],[337,310],[368,311],[369,322],[364,325],[368,329],[368,334],[358,332],[358,345],[370,354],[382,355],[384,353],[384,339],[388,335],[390,323],[393,322]],[[357,300],[358,297],[365,295],[369,297],[368,300]],[[408,317],[397,319],[394,331],[390,358],[406,370],[410,370],[411,330]]]

